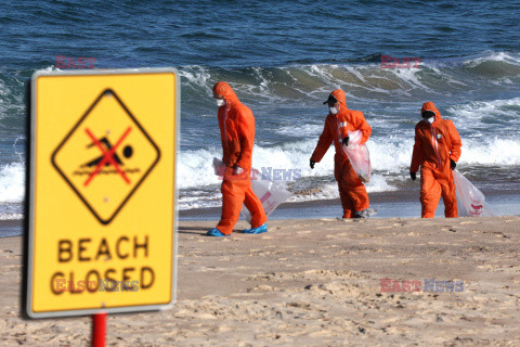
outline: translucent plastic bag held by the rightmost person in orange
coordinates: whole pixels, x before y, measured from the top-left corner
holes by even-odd
[[[485,196],[458,170],[453,170],[453,180],[457,190],[457,209],[459,217],[495,217],[497,214],[485,202]]]

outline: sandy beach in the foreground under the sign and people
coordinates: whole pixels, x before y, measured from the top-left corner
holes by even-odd
[[[110,314],[108,346],[520,345],[520,217],[213,223],[180,223],[177,304]],[[0,239],[0,345],[87,346],[88,317],[21,318],[21,249]]]

